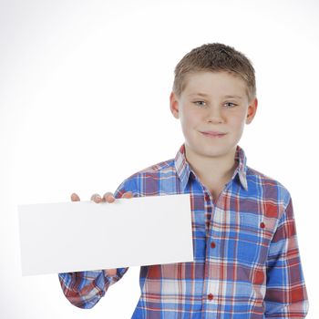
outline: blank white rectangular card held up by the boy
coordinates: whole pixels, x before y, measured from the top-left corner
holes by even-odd
[[[22,274],[192,262],[190,194],[19,205]]]

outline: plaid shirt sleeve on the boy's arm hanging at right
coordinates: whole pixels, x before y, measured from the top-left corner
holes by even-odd
[[[308,298],[290,197],[274,233],[266,266],[265,317],[304,318]]]

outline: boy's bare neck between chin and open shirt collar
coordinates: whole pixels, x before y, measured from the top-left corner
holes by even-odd
[[[235,162],[236,147],[232,152],[221,157],[205,157],[193,152],[185,144],[185,157],[190,164],[191,170],[202,181],[227,182],[232,179],[232,174],[236,170]]]

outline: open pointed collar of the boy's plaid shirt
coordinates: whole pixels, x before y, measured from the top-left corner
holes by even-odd
[[[232,180],[238,174],[238,177],[242,184],[243,189],[248,190],[247,178],[246,178],[247,159],[243,149],[239,145],[237,145],[237,148],[236,148],[235,160],[238,162],[238,166],[236,170],[233,172]],[[174,164],[175,164],[175,170],[177,172],[177,175],[180,178],[181,188],[182,190],[185,190],[187,183],[190,179],[190,172],[191,172],[190,165],[185,157],[185,144],[181,145],[178,153],[176,154]]]

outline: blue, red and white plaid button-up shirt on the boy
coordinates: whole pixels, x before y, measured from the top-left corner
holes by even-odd
[[[194,262],[140,268],[141,295],[135,319],[304,318],[307,293],[300,262],[293,204],[288,190],[238,165],[214,203],[185,158],[141,170],[115,192],[134,196],[190,193]],[[164,235],[164,234],[163,234]],[[142,249],[142,247],[141,247]],[[103,271],[60,273],[67,299],[91,308],[128,268],[109,277]]]

